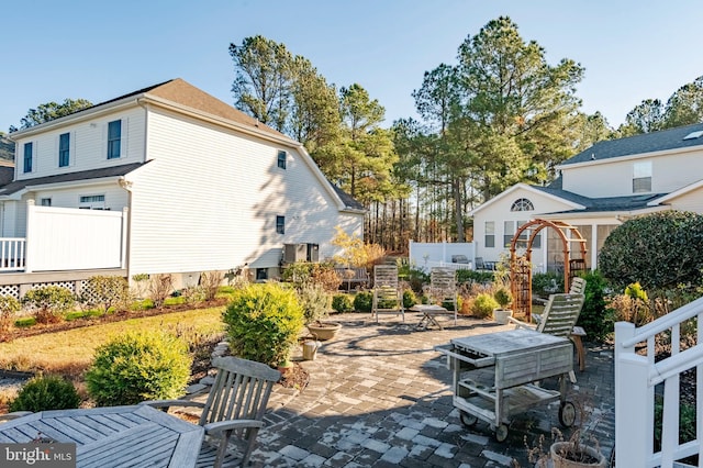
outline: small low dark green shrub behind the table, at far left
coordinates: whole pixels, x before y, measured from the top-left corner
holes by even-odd
[[[10,411],[71,410],[78,408],[80,397],[71,382],[58,376],[35,377],[10,403]]]

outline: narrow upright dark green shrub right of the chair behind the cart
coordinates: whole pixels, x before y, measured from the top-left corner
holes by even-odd
[[[613,311],[606,307],[607,281],[599,270],[582,275],[585,279],[585,302],[577,325],[582,326],[589,341],[602,342],[613,332]]]

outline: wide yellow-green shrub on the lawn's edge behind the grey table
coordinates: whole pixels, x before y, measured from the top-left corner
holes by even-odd
[[[183,393],[191,365],[188,345],[172,334],[132,332],[96,349],[86,385],[99,406],[172,399]]]

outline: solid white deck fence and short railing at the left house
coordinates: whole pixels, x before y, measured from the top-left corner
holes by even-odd
[[[27,203],[26,239],[0,239],[5,271],[124,268],[127,211],[35,207]],[[25,255],[22,255],[25,254]]]

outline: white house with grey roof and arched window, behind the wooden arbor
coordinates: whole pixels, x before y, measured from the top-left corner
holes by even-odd
[[[499,260],[521,225],[543,219],[578,229],[593,269],[607,235],[628,218],[703,213],[703,124],[599,142],[557,169],[549,186],[517,183],[471,212],[477,257]],[[542,230],[533,242],[535,269],[559,269],[562,261],[554,229]]]

